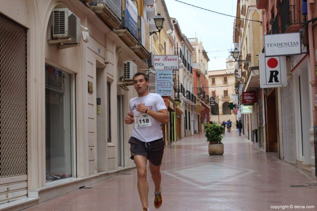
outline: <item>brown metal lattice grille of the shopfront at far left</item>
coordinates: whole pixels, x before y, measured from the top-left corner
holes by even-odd
[[[26,28],[0,13],[0,178],[27,173]]]

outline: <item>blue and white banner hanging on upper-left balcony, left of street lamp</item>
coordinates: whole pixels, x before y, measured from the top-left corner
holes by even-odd
[[[137,9],[131,0],[125,1],[125,8],[125,26],[137,39]]]

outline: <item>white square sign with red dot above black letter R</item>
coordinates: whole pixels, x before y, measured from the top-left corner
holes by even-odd
[[[286,57],[259,53],[260,88],[287,86]]]

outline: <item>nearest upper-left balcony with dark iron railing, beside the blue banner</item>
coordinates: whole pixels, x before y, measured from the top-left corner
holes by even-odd
[[[121,0],[94,0],[89,5],[110,28],[121,25]]]

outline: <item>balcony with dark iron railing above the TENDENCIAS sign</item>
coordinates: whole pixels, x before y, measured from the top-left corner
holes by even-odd
[[[301,13],[301,0],[293,0],[291,2],[294,4],[289,5],[288,0],[283,0],[280,3],[279,16],[281,33],[298,32],[302,27],[301,24],[306,22],[305,15]]]

